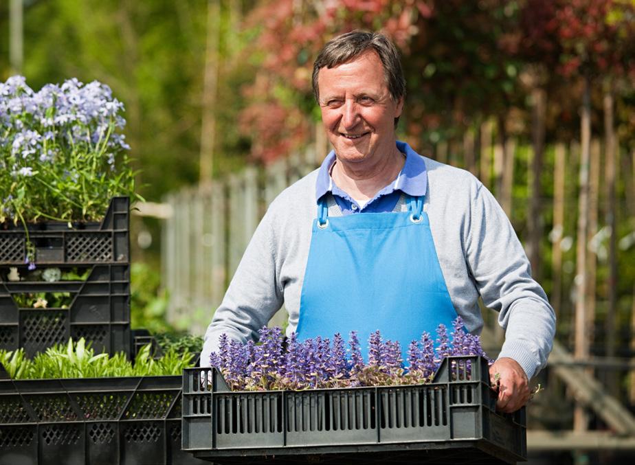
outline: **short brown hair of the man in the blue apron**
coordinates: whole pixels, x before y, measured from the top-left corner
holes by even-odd
[[[401,60],[399,59],[397,47],[394,46],[388,37],[379,32],[355,30],[328,41],[320,50],[317,58],[315,58],[313,76],[311,78],[315,100],[320,102],[320,91],[317,89],[317,73],[320,72],[320,69],[324,67],[330,69],[337,65],[342,65],[342,63],[347,63],[368,49],[375,50],[381,60],[383,74],[386,77],[386,85],[392,100],[397,102],[400,98],[405,97],[405,78],[403,77],[403,69],[401,69]]]

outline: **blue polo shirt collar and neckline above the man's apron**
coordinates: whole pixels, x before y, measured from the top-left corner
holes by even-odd
[[[397,177],[385,188],[379,190],[375,197],[370,199],[364,207],[353,200],[346,192],[338,188],[331,178],[331,168],[335,163],[335,151],[326,155],[320,171],[317,173],[317,182],[315,183],[315,198],[320,199],[322,196],[331,192],[333,198],[339,208],[342,209],[342,215],[350,215],[361,212],[386,213],[392,212],[399,202],[401,194],[411,196],[423,196],[427,190],[427,174],[425,172],[425,161],[419,156],[408,144],[397,141],[397,148],[405,155],[405,163],[401,172]]]

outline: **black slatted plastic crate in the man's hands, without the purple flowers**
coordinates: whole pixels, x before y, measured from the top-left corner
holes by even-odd
[[[524,408],[501,414],[495,402],[476,356],[445,359],[426,385],[299,392],[231,392],[217,370],[191,368],[183,450],[220,464],[526,460]]]

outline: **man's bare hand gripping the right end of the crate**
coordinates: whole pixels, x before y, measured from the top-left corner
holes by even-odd
[[[529,400],[529,380],[514,359],[503,357],[489,367],[492,389],[498,392],[496,408],[504,413],[520,409]]]

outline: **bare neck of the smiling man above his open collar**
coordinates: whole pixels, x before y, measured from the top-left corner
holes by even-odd
[[[368,200],[397,177],[404,163],[405,157],[395,147],[375,163],[347,163],[337,159],[331,177],[353,199]]]

